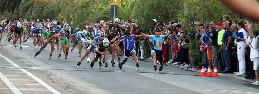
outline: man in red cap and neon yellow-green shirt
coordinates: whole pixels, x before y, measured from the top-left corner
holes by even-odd
[[[218,35],[217,35],[217,44],[218,44],[218,47],[220,47],[219,48],[219,54],[218,54],[218,56],[219,56],[219,60],[221,60],[220,61],[220,66],[221,66],[221,68],[223,68],[224,69],[224,61],[223,61],[223,52],[222,52],[222,39],[223,39],[223,35],[224,35],[224,33],[225,33],[225,29],[223,29],[223,23],[222,22],[217,22],[216,23],[216,29],[217,29],[217,31],[218,31]],[[223,69],[221,69],[222,71],[223,71]],[[221,71],[220,71],[221,72]]]

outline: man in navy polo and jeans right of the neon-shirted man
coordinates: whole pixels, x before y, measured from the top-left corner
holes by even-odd
[[[225,29],[225,32],[223,34],[222,39],[222,48],[223,48],[223,59],[225,61],[225,70],[222,73],[230,73],[230,55],[231,55],[231,41],[232,41],[232,32],[229,29],[229,22],[225,21],[223,22],[223,28]]]

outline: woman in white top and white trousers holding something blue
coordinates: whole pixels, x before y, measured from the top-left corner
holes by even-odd
[[[245,61],[245,46],[246,46],[246,39],[247,39],[247,33],[244,30],[245,24],[240,21],[237,23],[238,33],[243,33],[243,36],[235,36],[237,39],[237,58],[239,61],[239,73],[236,75],[242,75],[244,76],[246,73],[246,61]]]

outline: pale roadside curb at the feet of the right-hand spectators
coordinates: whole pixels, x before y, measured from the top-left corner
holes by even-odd
[[[153,60],[149,60],[149,59],[145,59],[144,61],[153,62]],[[178,68],[182,68],[182,69],[186,69],[186,70],[190,70],[190,71],[194,71],[194,72],[200,72],[200,70],[196,70],[196,68],[187,68],[185,66],[173,65],[172,63],[171,64],[166,63],[165,66],[178,67]],[[218,73],[218,75],[224,76],[224,77],[234,77],[234,78],[241,79],[241,80],[248,81],[248,82],[255,82],[252,79],[246,79],[246,78],[244,78],[244,76],[238,76],[235,74]]]

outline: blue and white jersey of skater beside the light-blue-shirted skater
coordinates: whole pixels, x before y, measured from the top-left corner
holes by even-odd
[[[128,39],[126,35],[122,36],[120,38],[120,41],[124,41],[124,49],[125,50],[132,50],[134,48],[134,38],[136,35],[131,35]]]

